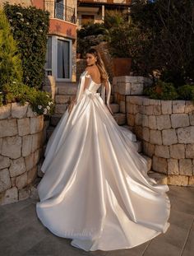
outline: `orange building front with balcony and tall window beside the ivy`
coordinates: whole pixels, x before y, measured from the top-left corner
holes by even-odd
[[[0,0],[48,11],[49,30],[45,72],[55,81],[76,81],[77,0]]]

